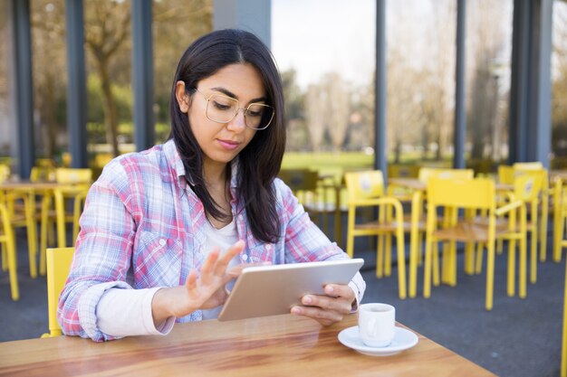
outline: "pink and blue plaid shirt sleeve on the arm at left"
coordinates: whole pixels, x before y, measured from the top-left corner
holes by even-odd
[[[59,297],[57,316],[65,335],[97,342],[114,338],[101,332],[96,308],[107,290],[132,289],[128,271],[136,221],[129,182],[122,165],[113,161],[87,195],[71,270]]]

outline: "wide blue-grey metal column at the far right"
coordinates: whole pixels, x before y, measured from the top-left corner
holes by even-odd
[[[514,0],[508,162],[541,161],[551,152],[553,0]]]

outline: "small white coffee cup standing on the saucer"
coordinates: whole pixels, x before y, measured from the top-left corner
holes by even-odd
[[[369,347],[386,347],[394,339],[396,308],[388,304],[359,306],[359,334]]]

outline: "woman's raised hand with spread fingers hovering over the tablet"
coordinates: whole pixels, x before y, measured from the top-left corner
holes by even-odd
[[[238,240],[222,257],[216,248],[207,255],[200,276],[192,269],[184,286],[159,289],[151,302],[154,324],[158,326],[170,316],[187,316],[198,309],[223,305],[227,297],[225,285],[235,278],[226,267],[244,248],[244,240]]]

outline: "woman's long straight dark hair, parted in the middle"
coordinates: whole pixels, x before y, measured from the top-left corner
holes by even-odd
[[[179,60],[169,99],[169,138],[173,138],[178,148],[185,166],[187,184],[191,184],[207,213],[216,219],[223,219],[223,213],[207,191],[203,178],[203,151],[191,128],[187,127],[187,114],[179,108],[176,83],[179,80],[185,82],[187,95],[192,96],[200,80],[235,63],[249,63],[258,70],[264,83],[266,103],[275,110],[270,126],[256,131],[255,137],[238,155],[236,192],[238,203],[244,203],[255,239],[275,242],[280,237],[280,221],[275,210],[273,182],[280,171],[285,148],[283,88],[274,58],[258,37],[242,30],[219,30],[200,37],[187,48]]]

